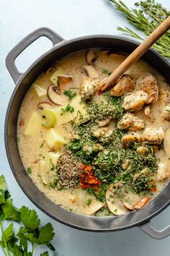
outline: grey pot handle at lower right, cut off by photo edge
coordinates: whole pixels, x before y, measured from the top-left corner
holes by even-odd
[[[153,239],[164,239],[170,235],[170,226],[167,226],[162,230],[157,230],[151,225],[150,221],[138,226],[138,228],[148,234],[148,236],[151,236]]]

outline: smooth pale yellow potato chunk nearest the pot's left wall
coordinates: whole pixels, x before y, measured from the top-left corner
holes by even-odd
[[[42,117],[36,111],[32,113],[24,135],[37,135],[42,130]]]

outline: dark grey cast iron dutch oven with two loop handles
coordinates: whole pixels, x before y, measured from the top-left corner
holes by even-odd
[[[14,64],[15,59],[22,51],[27,48],[32,42],[45,36],[53,42],[53,48],[40,56],[35,63],[24,74],[19,73]],[[17,179],[19,186],[22,188],[27,197],[37,205],[40,210],[68,226],[85,231],[118,231],[122,229],[129,229],[133,226],[139,226],[148,235],[155,239],[162,239],[170,234],[170,226],[166,229],[157,231],[151,226],[149,222],[153,216],[161,213],[170,203],[170,183],[164,190],[158,194],[151,202],[144,208],[128,213],[120,217],[105,217],[97,218],[92,216],[81,216],[76,213],[71,213],[68,210],[55,205],[48,200],[45,195],[40,192],[32,180],[24,170],[19,150],[17,147],[17,118],[19,108],[22,104],[25,93],[34,82],[35,78],[50,64],[60,59],[63,56],[71,54],[75,51],[80,51],[88,48],[109,48],[116,51],[132,52],[138,43],[133,40],[115,37],[113,35],[92,35],[73,40],[63,40],[60,35],[46,27],[35,30],[30,35],[27,35],[20,43],[15,46],[12,51],[6,56],[6,67],[9,70],[16,86],[12,97],[9,101],[9,106],[6,112],[5,121],[5,145],[6,154],[12,172]],[[162,58],[156,51],[149,50],[143,59],[155,67],[170,83],[170,65],[166,59]],[[33,150],[33,149],[32,149]]]

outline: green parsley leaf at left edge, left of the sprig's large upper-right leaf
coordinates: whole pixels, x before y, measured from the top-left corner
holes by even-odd
[[[12,205],[12,199],[8,198],[6,203],[1,205],[4,213],[4,218],[7,220],[20,221],[20,214],[17,208]]]

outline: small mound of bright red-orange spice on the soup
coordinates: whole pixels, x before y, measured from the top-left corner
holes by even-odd
[[[98,189],[101,182],[94,176],[94,172],[90,164],[85,165],[81,164],[81,174],[80,176],[80,185],[82,189],[89,189],[93,187],[94,189]]]

